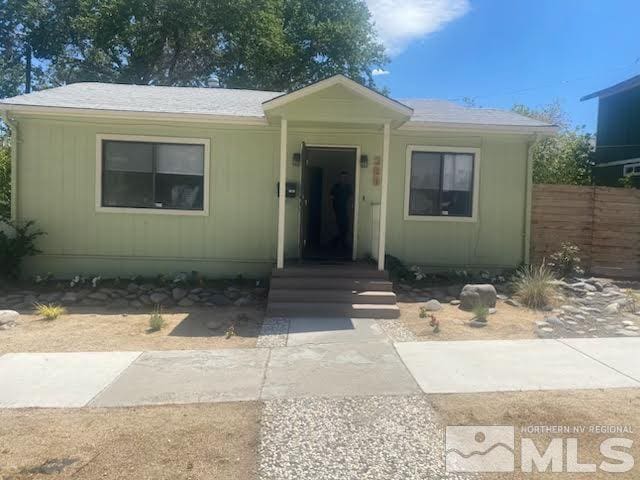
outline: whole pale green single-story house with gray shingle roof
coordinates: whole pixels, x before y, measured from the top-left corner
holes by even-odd
[[[365,257],[382,274],[385,253],[512,267],[529,255],[529,147],[555,131],[340,75],[292,93],[77,83],[0,111],[17,139],[13,216],[47,232],[28,269],[61,276]]]

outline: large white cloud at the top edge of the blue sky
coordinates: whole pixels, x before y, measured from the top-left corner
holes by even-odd
[[[470,9],[469,0],[366,0],[378,36],[390,55],[440,30]]]

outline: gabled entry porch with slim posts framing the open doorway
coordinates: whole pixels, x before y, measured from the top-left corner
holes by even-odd
[[[290,182],[294,185],[290,193],[293,198],[287,199],[285,188],[278,189],[276,273],[284,269],[285,261],[304,258],[305,208],[311,189],[304,175],[308,166],[307,146],[355,154],[355,164],[350,171],[354,177],[353,211],[349,218],[352,260],[364,257],[365,253],[370,254],[377,259],[378,271],[383,272],[391,129],[406,122],[412,110],[342,76],[269,100],[263,108],[269,122],[280,127],[278,184]],[[326,136],[322,135],[323,131],[327,132]],[[329,133],[336,131],[340,134],[332,137]],[[315,140],[336,136],[346,141]],[[368,144],[363,146],[362,138],[365,136]],[[295,173],[292,176],[289,171],[290,164],[295,168],[301,167],[297,176]],[[368,168],[364,177],[363,168]],[[334,180],[329,181],[335,181],[335,175]],[[333,199],[333,192],[331,195]],[[361,215],[361,207],[368,208],[366,217]],[[337,217],[336,214],[336,220]],[[296,223],[299,227],[297,232],[294,231]],[[365,233],[362,236],[367,238],[359,238],[359,233]],[[362,246],[363,241],[366,246]]]

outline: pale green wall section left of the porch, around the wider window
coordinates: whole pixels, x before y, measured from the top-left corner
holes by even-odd
[[[19,119],[18,215],[47,232],[38,273],[267,273],[276,250],[278,131],[267,127]],[[96,134],[208,138],[208,216],[98,213]]]

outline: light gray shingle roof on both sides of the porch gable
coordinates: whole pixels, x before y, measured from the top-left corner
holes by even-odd
[[[262,103],[282,92],[224,88],[158,87],[110,83],[75,83],[39,92],[0,99],[0,107],[12,105],[59,107],[124,112],[224,115],[263,118]],[[411,121],[545,127],[549,124],[513,112],[468,108],[444,100],[399,100],[413,108]]]

